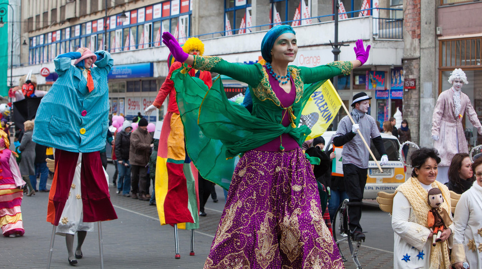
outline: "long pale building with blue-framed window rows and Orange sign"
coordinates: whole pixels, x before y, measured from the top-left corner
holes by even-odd
[[[23,0],[22,33],[29,46],[21,48],[23,66],[14,67],[14,85],[29,70],[39,89],[48,90],[55,75],[53,59],[61,53],[88,47],[112,54],[109,74],[111,114],[130,119],[154,101],[168,74],[168,49],[161,33],[170,31],[182,43],[196,36],[204,55],[231,62],[255,63],[260,45],[272,25],[290,24],[297,32],[298,56],[293,63],[317,66],[333,60],[334,5],[338,3],[339,60],[352,60],[357,39],[371,44],[367,63],[339,77],[338,93],[349,107],[354,94],[374,99],[371,115],[381,123],[404,102],[402,57],[402,0]],[[44,75],[47,72],[44,69]],[[245,83],[222,77],[229,92],[243,92]],[[227,92],[228,92],[227,91]],[[162,120],[160,110],[150,121]],[[338,119],[344,116],[340,111]],[[337,119],[335,119],[336,122]]]

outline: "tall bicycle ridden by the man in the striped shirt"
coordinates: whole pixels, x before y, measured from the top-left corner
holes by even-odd
[[[362,245],[362,240],[356,241],[356,247],[353,248],[353,242],[352,242],[353,238],[351,235],[350,228],[348,226],[348,222],[349,222],[348,207],[362,206],[362,205],[363,205],[362,202],[349,202],[348,199],[345,199],[343,202],[341,202],[340,206],[336,210],[335,215],[333,216],[333,221],[331,223],[331,226],[333,227],[333,239],[335,240],[335,243],[338,246],[341,259],[343,260],[343,262],[347,260],[343,252],[341,251],[340,243],[347,241],[348,247],[350,249],[351,258],[356,264],[357,269],[362,269],[362,265],[360,265],[360,262],[358,261],[358,251],[360,249],[360,246]],[[336,226],[337,220],[339,221],[338,227]],[[339,232],[338,236],[341,236],[339,240],[336,238],[337,232]]]

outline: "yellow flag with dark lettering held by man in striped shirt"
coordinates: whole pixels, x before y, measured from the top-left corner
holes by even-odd
[[[326,80],[316,89],[301,112],[301,124],[311,129],[307,140],[318,137],[326,131],[338,113],[341,102],[330,80]]]

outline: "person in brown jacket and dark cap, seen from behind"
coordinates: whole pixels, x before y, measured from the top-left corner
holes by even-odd
[[[139,127],[132,132],[129,161],[131,163],[131,192],[132,198],[149,201],[147,196],[147,164],[151,156],[151,135],[147,131],[146,118],[139,120]],[[138,197],[138,193],[140,194]]]

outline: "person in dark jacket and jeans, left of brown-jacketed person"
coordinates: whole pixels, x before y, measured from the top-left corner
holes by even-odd
[[[115,136],[115,156],[117,157],[117,166],[119,170],[119,179],[117,180],[117,194],[125,197],[131,197],[131,164],[129,163],[129,151],[131,148],[131,122],[125,120],[122,124],[122,131],[117,132]]]

